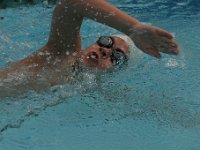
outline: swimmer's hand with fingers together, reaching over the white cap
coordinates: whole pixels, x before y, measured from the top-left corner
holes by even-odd
[[[131,30],[130,38],[143,52],[160,58],[160,52],[177,55],[179,48],[173,36],[158,27],[137,24]]]

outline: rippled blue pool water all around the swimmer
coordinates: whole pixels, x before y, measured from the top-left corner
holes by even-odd
[[[179,56],[134,56],[127,69],[80,85],[30,91],[0,102],[2,150],[199,150],[200,3],[111,1],[144,23],[167,29]],[[53,8],[0,10],[0,66],[40,48]],[[114,29],[86,20],[84,47]]]

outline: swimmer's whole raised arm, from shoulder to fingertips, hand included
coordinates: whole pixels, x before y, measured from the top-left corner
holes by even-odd
[[[104,0],[62,0],[53,15],[49,44],[60,50],[80,50],[80,27],[83,18],[115,28],[128,35],[143,52],[160,57],[160,52],[178,54],[178,46],[171,34],[154,26],[141,24]],[[68,43],[68,44],[61,44]]]

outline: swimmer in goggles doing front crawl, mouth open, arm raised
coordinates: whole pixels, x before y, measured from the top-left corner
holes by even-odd
[[[128,43],[117,36],[102,36],[81,50],[80,28],[84,18],[110,26],[127,35],[144,53],[177,55],[179,48],[167,31],[142,24],[105,0],[61,0],[52,16],[44,47],[0,70],[0,95],[45,89],[69,83],[77,70],[112,70],[127,63]]]

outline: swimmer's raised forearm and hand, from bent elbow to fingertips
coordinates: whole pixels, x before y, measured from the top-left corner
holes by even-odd
[[[178,45],[170,33],[158,27],[143,25],[104,0],[62,0],[61,5],[65,9],[73,10],[72,16],[87,17],[121,31],[149,55],[160,58],[160,52],[168,54],[179,52]],[[81,19],[79,23],[80,21]]]

